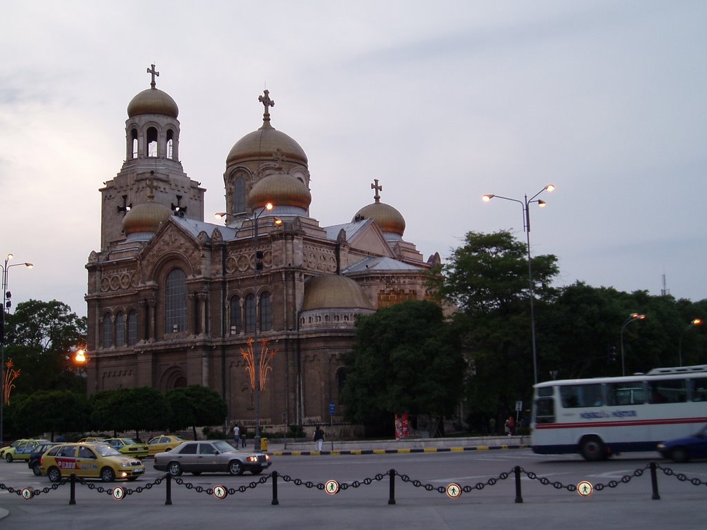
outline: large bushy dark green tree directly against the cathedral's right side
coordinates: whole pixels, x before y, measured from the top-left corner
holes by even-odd
[[[392,430],[393,415],[452,413],[464,374],[460,343],[433,302],[408,301],[359,317],[344,359],[346,417]]]

